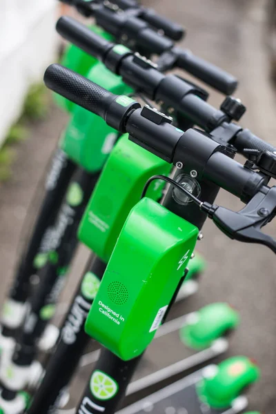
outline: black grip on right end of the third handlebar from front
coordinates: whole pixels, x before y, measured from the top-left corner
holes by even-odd
[[[230,75],[230,73],[193,55],[188,50],[181,50],[177,48],[177,66],[189,72],[191,75],[201,79],[207,85],[219,90],[225,95],[232,95],[237,88],[237,79]]]

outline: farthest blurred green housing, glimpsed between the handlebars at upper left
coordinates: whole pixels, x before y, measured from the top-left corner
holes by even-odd
[[[95,32],[103,37],[103,39],[109,41],[112,41],[114,39],[110,33],[105,32],[98,26],[91,26],[90,29],[92,32]],[[61,59],[61,65],[70,70],[74,70],[82,76],[86,76],[88,70],[90,70],[92,66],[94,66],[97,62],[98,61],[95,59],[95,57],[88,55],[86,52],[83,52],[83,50],[77,48],[75,45],[68,45]],[[56,93],[54,96],[56,103],[61,109],[66,110],[66,112],[72,112],[72,110],[75,108],[75,103],[61,97],[61,95],[58,95]]]

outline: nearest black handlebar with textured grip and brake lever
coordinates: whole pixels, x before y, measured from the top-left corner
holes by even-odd
[[[273,237],[260,230],[276,215],[276,187],[268,188],[269,177],[231,158],[233,149],[221,146],[201,132],[183,132],[170,125],[171,119],[126,96],[114,95],[88,79],[60,65],[50,66],[44,75],[48,88],[103,117],[107,124],[128,132],[130,139],[173,164],[191,162],[202,179],[207,179],[248,203],[238,213],[201,203],[219,228],[233,239],[265,244],[276,253]],[[230,151],[230,152],[229,152]]]

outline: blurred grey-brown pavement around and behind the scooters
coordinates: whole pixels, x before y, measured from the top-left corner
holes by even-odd
[[[236,96],[248,107],[242,125],[276,146],[275,93],[268,79],[264,46],[265,1],[263,0],[146,0],[144,3],[167,17],[184,23],[188,35],[184,46],[232,72],[240,80]],[[221,95],[212,91],[210,103],[219,106]],[[1,297],[12,277],[17,241],[31,202],[57,136],[67,116],[52,107],[48,119],[32,126],[31,136],[19,148],[14,178],[1,184],[0,263]],[[237,209],[235,197],[221,192],[219,203]],[[270,233],[276,237],[275,223]],[[227,239],[211,222],[204,226],[198,250],[208,260],[199,293],[186,310],[204,304],[230,302],[242,316],[239,331],[231,340],[229,355],[254,357],[262,368],[262,380],[250,390],[252,409],[275,413],[276,272],[275,255],[267,248]],[[86,262],[81,248],[63,298],[68,300]],[[187,308],[188,306],[188,308]]]

